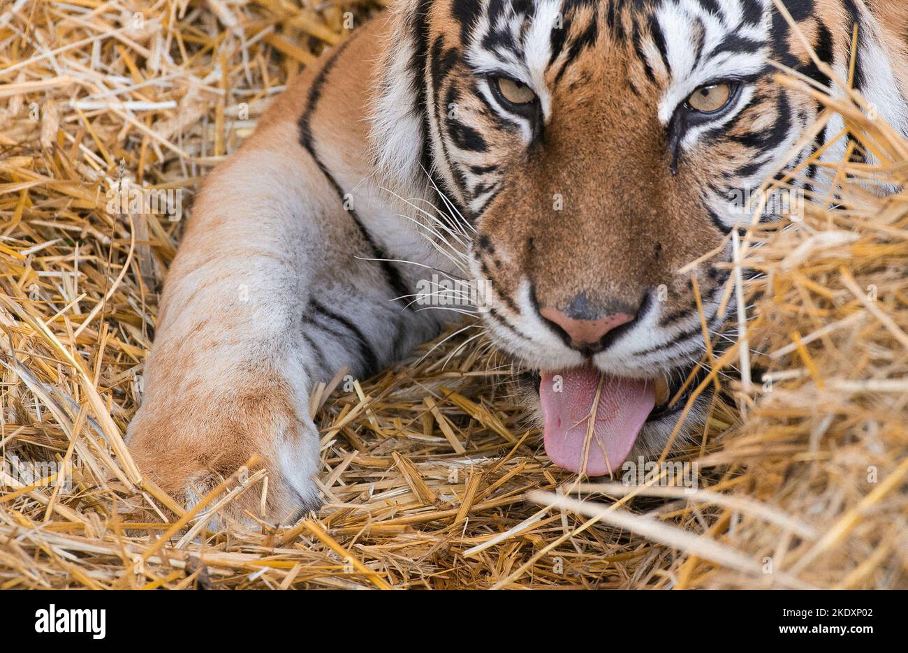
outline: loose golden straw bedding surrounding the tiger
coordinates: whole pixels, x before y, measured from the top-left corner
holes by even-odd
[[[190,196],[287,77],[345,37],[344,12],[379,9],[5,5],[0,588],[908,587],[908,196],[867,189],[904,183],[908,143],[859,98],[823,99],[877,156],[833,171],[840,208],[736,243],[762,274],[729,286],[748,320],[714,362],[765,374],[707,380],[729,400],[673,454],[698,463],[696,493],[552,468],[507,361],[470,330],[316,393],[327,502],[291,528],[216,526],[142,479],[122,436],[182,221],[112,215],[106,191],[128,177]],[[263,483],[238,470],[206,510]]]

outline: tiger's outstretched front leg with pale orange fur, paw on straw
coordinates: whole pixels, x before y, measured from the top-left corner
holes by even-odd
[[[363,290],[375,263],[357,259],[348,216],[311,207],[313,179],[296,151],[241,150],[195,203],[128,431],[143,474],[186,503],[258,454],[267,519],[317,508],[310,392],[341,366],[361,378],[390,361],[387,332],[403,309]],[[260,488],[232,514],[257,515]]]

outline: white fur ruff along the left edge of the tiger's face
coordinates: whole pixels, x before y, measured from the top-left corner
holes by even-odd
[[[425,32],[427,17],[419,5],[419,0],[399,0],[390,9],[369,116],[372,161],[384,183],[406,192],[425,188],[427,181],[421,165],[426,137],[419,99],[425,88],[419,35]]]

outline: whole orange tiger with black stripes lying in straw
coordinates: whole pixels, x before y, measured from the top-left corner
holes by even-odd
[[[475,317],[554,466],[655,456],[727,320],[729,236],[750,219],[729,193],[791,161],[810,196],[845,155],[841,116],[809,133],[822,105],[782,71],[851,84],[908,134],[908,6],[396,0],[202,184],[127,431],[136,464],[189,503],[257,454],[270,519],[319,509],[311,392],[457,320],[414,300],[427,279],[482,289]]]

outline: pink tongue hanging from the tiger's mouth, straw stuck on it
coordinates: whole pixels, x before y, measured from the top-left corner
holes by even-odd
[[[602,389],[584,465],[589,418],[600,380]],[[593,367],[544,372],[539,397],[548,458],[566,470],[586,470],[587,476],[620,469],[656,405],[651,382],[604,376]]]

